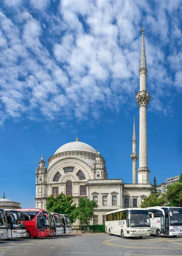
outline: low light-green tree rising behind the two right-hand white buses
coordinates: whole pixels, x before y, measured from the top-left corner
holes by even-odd
[[[144,198],[142,204],[140,205],[141,208],[146,207],[153,207],[153,206],[162,206],[166,202],[165,194],[162,194],[161,197],[158,197],[155,193],[149,195],[148,197]]]

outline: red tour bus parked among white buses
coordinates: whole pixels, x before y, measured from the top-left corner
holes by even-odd
[[[50,212],[37,209],[21,209],[25,218],[27,238],[54,236],[54,220]]]

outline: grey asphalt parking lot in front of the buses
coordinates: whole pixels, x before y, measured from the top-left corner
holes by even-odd
[[[121,239],[107,234],[0,241],[0,256],[182,256],[182,236]]]

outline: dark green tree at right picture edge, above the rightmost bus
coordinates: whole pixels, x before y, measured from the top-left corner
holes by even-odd
[[[182,182],[178,181],[168,185],[166,197],[173,206],[182,207]]]

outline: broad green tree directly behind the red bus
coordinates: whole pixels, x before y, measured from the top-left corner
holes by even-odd
[[[72,219],[74,219],[74,210],[76,209],[76,204],[74,204],[73,196],[66,195],[61,192],[61,194],[54,197],[53,195],[47,198],[46,209],[49,212],[57,212],[60,214],[68,214]]]

